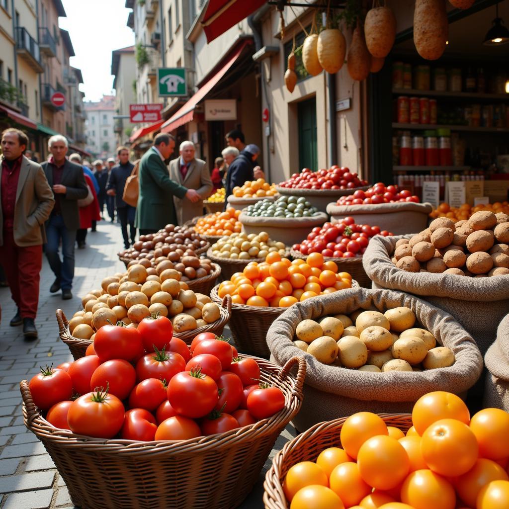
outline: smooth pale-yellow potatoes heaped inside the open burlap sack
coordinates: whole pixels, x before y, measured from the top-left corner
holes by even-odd
[[[436,346],[435,336],[419,327],[408,307],[379,311],[359,309],[320,322],[303,320],[293,344],[324,364],[359,371],[423,371],[454,364],[454,353]]]

